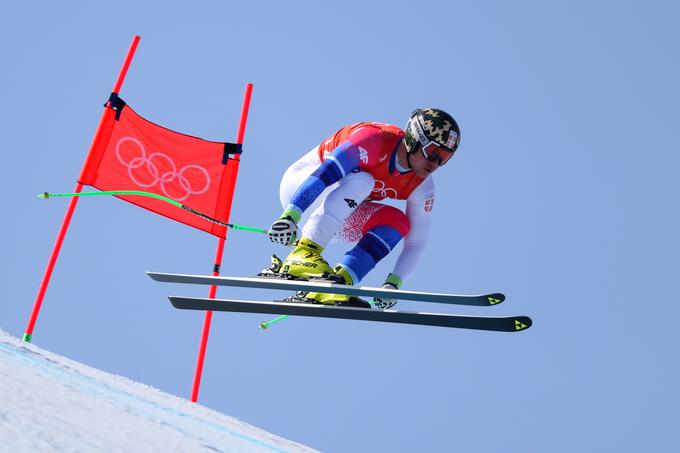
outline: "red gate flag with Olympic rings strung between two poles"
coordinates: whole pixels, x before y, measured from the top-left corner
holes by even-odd
[[[139,116],[111,96],[78,182],[99,190],[153,192],[228,222],[240,145],[181,134]],[[226,228],[164,201],[117,195],[157,214],[224,238]]]

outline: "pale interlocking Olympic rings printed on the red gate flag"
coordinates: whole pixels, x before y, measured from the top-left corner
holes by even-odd
[[[141,156],[134,157],[130,159],[128,162],[126,162],[125,159],[121,156],[120,148],[123,143],[128,141],[137,145],[137,147],[141,151]],[[189,198],[190,195],[200,195],[202,193],[207,192],[208,188],[210,188],[210,174],[205,168],[201,167],[200,165],[192,164],[185,165],[182,168],[180,168],[179,171],[177,171],[177,166],[175,165],[175,162],[167,154],[154,152],[149,154],[149,156],[147,157],[144,145],[142,144],[142,142],[140,142],[134,137],[123,137],[120,140],[118,140],[118,143],[116,143],[116,157],[118,158],[118,161],[121,164],[127,167],[128,176],[130,177],[130,180],[133,183],[143,188],[150,188],[155,186],[156,184],[159,184],[163,194],[168,198],[172,198],[175,201],[184,201],[187,198]],[[147,173],[151,176],[150,181],[142,180],[139,172],[137,172],[137,176],[135,176],[134,170],[141,167],[146,167]],[[161,172],[158,169],[159,167],[168,168],[169,170],[164,171],[161,174]],[[194,189],[191,186],[189,178],[185,176],[186,172],[191,170],[200,172],[205,178],[205,185],[198,190]],[[168,184],[172,183],[175,180],[177,181],[177,183],[179,183],[179,186],[182,188],[182,192],[184,192],[183,196],[178,196],[175,193],[171,194],[168,192],[167,190]]]

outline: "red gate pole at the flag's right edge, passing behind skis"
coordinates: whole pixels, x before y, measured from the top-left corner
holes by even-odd
[[[238,133],[236,134],[236,143],[239,145],[243,144],[243,136],[246,132],[246,123],[248,122],[248,109],[250,107],[250,96],[253,92],[253,84],[246,84],[246,91],[243,94],[243,105],[241,107],[241,120],[239,121]],[[234,159],[236,161],[241,160],[240,154],[235,154]],[[234,187],[236,186],[236,176],[238,176],[238,170],[234,175],[232,182],[231,192],[232,199],[234,193]],[[231,202],[227,207],[227,211],[231,210]],[[229,212],[226,213],[226,219],[229,218]],[[226,232],[225,232],[226,236]],[[215,267],[213,268],[213,275],[220,275],[220,266],[222,265],[222,253],[224,252],[224,244],[226,242],[225,238],[219,238],[217,241],[217,250],[215,252]],[[212,285],[208,293],[210,299],[214,299],[217,294],[217,286]],[[205,318],[203,320],[203,332],[201,333],[201,343],[198,348],[198,358],[196,360],[196,371],[194,373],[194,384],[191,388],[191,401],[196,402],[198,400],[198,390],[201,386],[201,375],[203,374],[203,363],[205,361],[205,351],[208,346],[208,336],[210,335],[210,323],[212,322],[212,311],[205,312]]]

